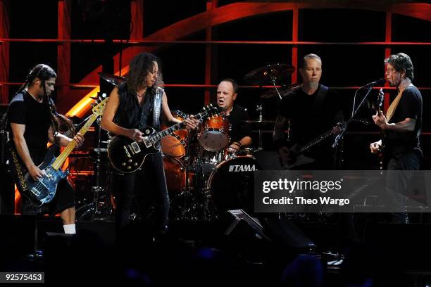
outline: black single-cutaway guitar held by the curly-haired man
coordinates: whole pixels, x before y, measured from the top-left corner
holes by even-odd
[[[204,107],[203,110],[203,112],[194,115],[197,120],[201,121],[218,113],[218,109],[211,104]],[[185,122],[177,123],[161,132],[156,132],[152,127],[146,127],[142,130],[144,134],[142,141],[133,141],[126,136],[114,136],[108,144],[108,158],[116,170],[123,173],[135,172],[144,163],[146,155],[160,151],[157,146],[158,141],[183,127],[185,127]]]

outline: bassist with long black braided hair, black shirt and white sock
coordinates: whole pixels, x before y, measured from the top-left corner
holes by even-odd
[[[20,182],[18,174],[28,171],[32,179],[46,177],[38,165],[43,162],[47,143],[58,146],[68,146],[70,141],[76,141],[81,146],[84,138],[76,134],[73,139],[58,132],[60,122],[66,122],[65,117],[58,115],[50,96],[56,83],[56,72],[48,65],[39,64],[27,75],[27,79],[13,97],[8,106],[8,129],[11,130],[13,148],[11,153],[18,153],[19,162],[13,162],[15,181]],[[70,127],[73,125],[68,124]],[[63,219],[65,234],[75,234],[75,192],[72,186],[63,179],[58,183],[56,196],[49,203],[35,206],[23,198],[23,214],[55,215],[60,212]]]

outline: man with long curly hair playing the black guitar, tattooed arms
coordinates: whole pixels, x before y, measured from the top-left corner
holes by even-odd
[[[180,122],[170,113],[168,98],[162,88],[159,63],[151,53],[139,53],[132,59],[126,81],[115,87],[109,96],[101,121],[102,128],[134,141],[142,141],[144,134],[141,130],[144,127],[160,131],[161,120],[165,124]],[[187,129],[195,129],[199,121],[189,118],[185,124]],[[145,186],[142,181],[144,177],[149,179],[151,186]],[[117,231],[130,224],[130,208],[136,190],[143,196],[152,193],[156,201],[156,236],[164,234],[168,228],[169,196],[161,153],[147,155],[142,170],[116,174],[115,181]]]

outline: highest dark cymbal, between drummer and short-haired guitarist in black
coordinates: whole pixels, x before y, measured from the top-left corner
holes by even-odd
[[[273,79],[277,82],[291,75],[295,71],[295,67],[290,64],[271,64],[265,67],[252,70],[244,76],[244,81],[248,84],[273,84]]]

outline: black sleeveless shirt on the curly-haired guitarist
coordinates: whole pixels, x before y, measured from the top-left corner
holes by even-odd
[[[154,93],[147,89],[144,104],[141,106],[136,95],[127,90],[127,84],[124,82],[118,86],[118,96],[120,104],[114,116],[117,125],[125,129],[138,129],[142,119],[142,128],[153,127],[160,131],[160,120],[157,127],[153,125]]]

